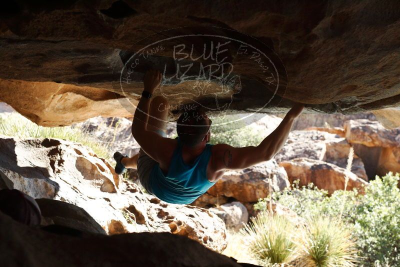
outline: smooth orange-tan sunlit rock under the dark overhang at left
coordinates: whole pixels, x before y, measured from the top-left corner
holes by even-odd
[[[94,116],[130,117],[134,111],[125,98],[100,88],[4,79],[0,87],[1,100],[43,126],[70,125]]]

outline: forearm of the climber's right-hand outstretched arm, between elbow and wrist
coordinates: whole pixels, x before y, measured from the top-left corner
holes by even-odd
[[[258,145],[266,160],[271,159],[282,148],[289,135],[294,119],[295,116],[287,113],[277,128]]]

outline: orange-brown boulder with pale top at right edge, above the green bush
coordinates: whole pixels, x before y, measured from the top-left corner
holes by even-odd
[[[344,124],[346,139],[372,167],[371,174],[400,172],[400,128],[385,129],[377,121],[348,120]]]

